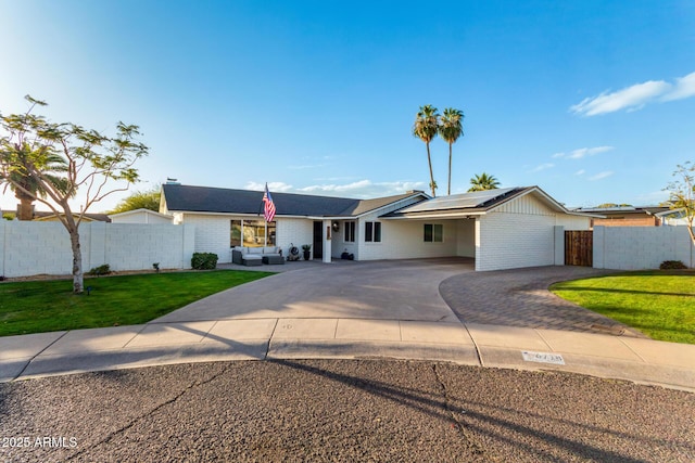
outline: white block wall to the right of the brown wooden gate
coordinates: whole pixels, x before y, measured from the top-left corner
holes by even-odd
[[[595,227],[594,268],[658,269],[665,260],[695,267],[686,227]]]

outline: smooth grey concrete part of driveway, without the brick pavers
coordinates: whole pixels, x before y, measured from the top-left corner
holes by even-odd
[[[154,323],[263,318],[458,322],[439,286],[471,272],[473,262],[467,258],[339,260],[227,290]]]

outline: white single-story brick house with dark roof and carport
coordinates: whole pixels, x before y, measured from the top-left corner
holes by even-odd
[[[463,256],[476,270],[564,263],[561,230],[589,230],[591,216],[567,210],[539,187],[442,197],[421,191],[370,200],[271,193],[277,214],[266,223],[263,192],[162,185],[160,213],[195,226],[195,252],[231,261],[235,246],[309,244],[329,262]]]

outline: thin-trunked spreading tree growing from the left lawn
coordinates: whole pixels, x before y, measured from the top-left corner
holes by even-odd
[[[33,114],[46,103],[27,95],[29,110],[24,114],[0,117],[0,183],[31,196],[48,206],[63,223],[73,250],[73,292],[84,291],[83,255],[79,244],[79,224],[91,205],[112,193],[126,191],[138,180],[132,167],[148,154],[148,146],[135,141],[140,134],[138,126],[116,125],[114,137],[97,130],[63,123],[54,124]],[[55,167],[58,157],[64,167]],[[22,179],[30,177],[37,190],[30,191]],[[80,213],[73,214],[68,203],[79,190],[85,202]]]

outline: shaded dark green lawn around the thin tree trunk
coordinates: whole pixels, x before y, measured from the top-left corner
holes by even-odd
[[[85,280],[90,295],[72,294],[72,280],[0,284],[0,336],[139,324],[268,272],[216,270]]]

